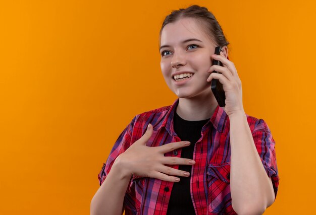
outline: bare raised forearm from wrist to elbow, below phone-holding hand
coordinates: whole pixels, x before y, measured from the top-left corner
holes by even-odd
[[[262,214],[275,199],[244,112],[229,116],[232,206],[238,214]]]

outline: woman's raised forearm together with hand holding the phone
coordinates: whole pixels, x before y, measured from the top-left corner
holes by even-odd
[[[268,177],[258,151],[256,149],[251,130],[247,123],[242,104],[242,86],[235,64],[227,59],[228,49],[222,48],[220,55],[214,54],[214,59],[220,60],[223,66],[212,65],[207,82],[218,79],[223,84],[225,103],[223,107],[230,119],[230,147],[231,147],[231,197],[232,206],[238,214],[262,214],[274,202],[274,190],[271,178]],[[218,71],[214,73],[213,71]],[[261,132],[261,131],[257,131]],[[261,132],[269,135],[269,131]],[[257,133],[256,133],[257,134]],[[260,133],[258,133],[260,134]],[[270,133],[271,136],[271,133]],[[256,142],[261,140],[256,139]],[[258,146],[259,147],[259,146]],[[270,145],[270,147],[274,147]],[[269,151],[270,149],[262,149]],[[261,155],[260,155],[261,156]],[[262,161],[275,162],[274,157],[264,157]],[[272,176],[269,171],[269,176]],[[277,177],[275,175],[275,183]]]

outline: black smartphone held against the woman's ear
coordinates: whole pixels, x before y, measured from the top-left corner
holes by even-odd
[[[217,46],[215,48],[215,54],[220,55],[221,54],[221,46]],[[219,60],[213,59],[213,65],[220,65],[223,66],[222,62]],[[213,73],[218,73],[217,71],[213,71]],[[211,82],[211,88],[212,92],[219,103],[220,107],[225,107],[225,91],[223,89],[222,83],[218,79],[213,79]]]

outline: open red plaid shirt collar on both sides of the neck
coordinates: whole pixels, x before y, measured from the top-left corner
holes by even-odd
[[[173,128],[173,117],[174,117],[174,113],[176,111],[176,107],[178,106],[178,104],[179,104],[179,98],[171,106],[169,106],[169,110],[167,110],[161,123],[155,126],[156,129],[165,127],[170,135],[175,135],[175,131]],[[229,121],[228,115],[226,114],[223,108],[217,105],[213,116],[209,119],[209,122],[213,124],[214,128],[218,132],[222,133],[224,131],[227,121]]]

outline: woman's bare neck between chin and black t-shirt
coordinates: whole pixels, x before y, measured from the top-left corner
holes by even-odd
[[[194,98],[179,98],[176,112],[182,119],[199,121],[211,118],[217,105],[213,93]]]

